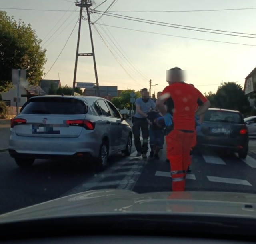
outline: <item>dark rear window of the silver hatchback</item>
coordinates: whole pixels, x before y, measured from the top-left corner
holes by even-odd
[[[86,114],[84,102],[74,98],[31,98],[21,109],[22,114]]]

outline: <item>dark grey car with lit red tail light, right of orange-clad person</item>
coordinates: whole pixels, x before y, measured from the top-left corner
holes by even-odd
[[[205,113],[197,134],[198,146],[232,150],[239,158],[246,158],[248,143],[248,128],[239,111],[209,108]]]

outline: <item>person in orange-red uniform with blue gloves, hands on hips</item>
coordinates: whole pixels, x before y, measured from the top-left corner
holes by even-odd
[[[185,190],[186,172],[195,131],[195,116],[204,114],[210,107],[208,99],[195,87],[186,84],[183,76],[183,71],[178,67],[168,70],[166,79],[169,86],[164,88],[160,98],[156,101],[156,106],[163,115],[166,126],[173,127],[166,135],[172,191]],[[165,101],[167,111],[164,107]],[[199,106],[196,110],[197,104]]]

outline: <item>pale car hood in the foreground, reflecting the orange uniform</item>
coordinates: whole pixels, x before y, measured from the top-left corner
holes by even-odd
[[[0,215],[1,222],[104,214],[194,214],[256,218],[256,195],[232,192],[82,192]]]

